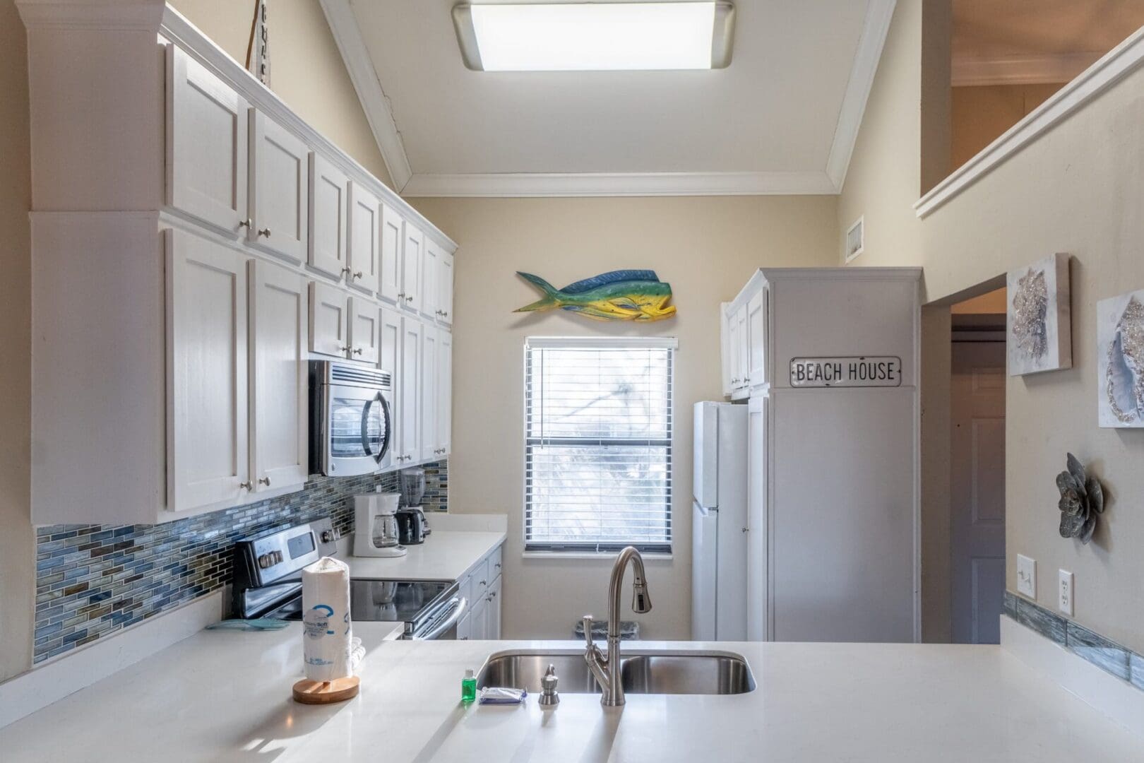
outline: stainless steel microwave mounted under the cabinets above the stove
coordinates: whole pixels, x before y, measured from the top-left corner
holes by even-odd
[[[310,474],[367,475],[391,464],[394,376],[336,360],[310,361]]]

